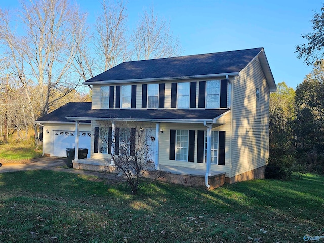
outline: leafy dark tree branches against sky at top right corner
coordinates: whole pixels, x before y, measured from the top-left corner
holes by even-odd
[[[298,45],[295,51],[298,53],[297,57],[304,59],[307,65],[312,65],[324,57],[324,5],[320,12],[315,12],[310,22],[313,32],[302,35],[306,43]]]

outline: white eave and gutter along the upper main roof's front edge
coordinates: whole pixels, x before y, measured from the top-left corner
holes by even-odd
[[[114,83],[138,83],[138,82],[154,82],[154,81],[172,81],[179,79],[199,79],[199,78],[218,78],[226,76],[239,76],[239,72],[217,73],[206,75],[179,76],[179,77],[157,77],[157,78],[137,78],[123,80],[101,80],[101,81],[85,81],[84,85],[114,84]]]

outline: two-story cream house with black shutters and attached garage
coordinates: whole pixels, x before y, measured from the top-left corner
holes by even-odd
[[[44,154],[87,147],[90,159],[74,165],[99,168],[116,152],[112,143],[134,142],[132,128],[141,126],[153,134],[156,169],[185,181],[203,175],[207,187],[217,175],[228,183],[263,178],[276,90],[263,48],[124,62],[84,84],[91,103],[69,103],[37,120]],[[109,132],[100,134],[101,126]]]

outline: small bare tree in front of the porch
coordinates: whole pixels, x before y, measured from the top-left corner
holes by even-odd
[[[111,126],[110,123],[100,123],[101,149],[99,149],[101,152],[107,150],[107,153],[111,154],[111,159],[108,161],[111,163],[110,166],[115,166],[117,171],[126,177],[132,194],[135,195],[138,189],[151,183],[151,181],[141,183],[140,179],[143,171],[154,170],[152,159],[155,153],[150,141],[155,134],[151,134],[149,128],[133,123],[119,123],[115,128],[109,128],[109,126]],[[159,173],[155,171],[153,180],[159,176]]]

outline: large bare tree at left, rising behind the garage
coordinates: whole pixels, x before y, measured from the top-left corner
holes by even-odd
[[[22,2],[18,20],[12,16],[0,13],[0,41],[8,70],[24,87],[30,110],[35,100],[28,86],[37,86],[39,114],[31,114],[36,120],[78,85],[70,67],[83,43],[86,16],[67,0]]]

